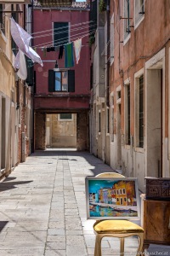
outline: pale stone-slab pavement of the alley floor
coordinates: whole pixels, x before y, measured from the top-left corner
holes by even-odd
[[[112,172],[88,152],[37,151],[0,181],[0,256],[92,256],[94,220],[86,218],[85,177]],[[136,238],[125,242],[135,255]],[[119,241],[105,238],[102,255],[119,255]],[[152,246],[151,255],[170,255]],[[159,254],[158,254],[159,253]]]

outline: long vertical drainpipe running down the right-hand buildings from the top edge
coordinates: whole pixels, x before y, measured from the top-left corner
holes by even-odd
[[[110,40],[110,0],[107,0],[106,5],[106,18],[107,18],[107,44]],[[110,42],[111,44],[111,42]],[[109,85],[110,85],[110,65],[111,65],[111,55],[110,44],[107,45],[107,79],[106,79],[106,105],[107,107],[110,106],[109,103]]]

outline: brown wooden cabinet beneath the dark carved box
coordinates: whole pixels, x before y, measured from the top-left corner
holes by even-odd
[[[144,247],[170,245],[170,201],[142,201]]]

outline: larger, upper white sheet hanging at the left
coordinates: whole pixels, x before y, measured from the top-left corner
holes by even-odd
[[[31,46],[29,46],[31,35],[27,33],[18,23],[16,23],[13,18],[10,18],[10,20],[11,36],[14,39],[15,44],[33,62],[37,62],[43,66],[40,56],[37,55],[37,52],[33,50]]]

